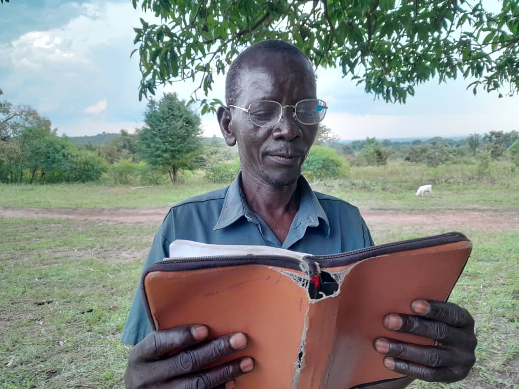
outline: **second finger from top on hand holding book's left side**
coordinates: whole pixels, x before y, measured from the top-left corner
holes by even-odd
[[[200,370],[203,366],[247,347],[247,338],[241,332],[228,334],[185,349],[154,365],[159,380],[181,376]],[[216,385],[214,385],[216,386]]]

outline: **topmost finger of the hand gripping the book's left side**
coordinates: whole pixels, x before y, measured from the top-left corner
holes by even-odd
[[[156,360],[188,348],[207,338],[208,335],[209,329],[199,324],[186,324],[153,331],[135,346],[132,353],[144,360]]]

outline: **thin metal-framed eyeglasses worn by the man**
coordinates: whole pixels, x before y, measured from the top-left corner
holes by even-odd
[[[326,103],[319,99],[305,99],[298,101],[295,105],[281,105],[273,100],[255,101],[247,108],[229,104],[229,107],[241,109],[247,112],[251,121],[258,127],[272,127],[279,123],[283,116],[283,109],[294,108],[294,117],[302,124],[317,124],[326,115]]]

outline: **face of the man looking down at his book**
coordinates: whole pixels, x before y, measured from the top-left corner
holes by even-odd
[[[248,58],[239,77],[235,105],[247,108],[258,100],[274,100],[282,106],[315,99],[315,76],[302,55],[257,54]],[[229,132],[238,143],[242,173],[270,186],[291,185],[315,141],[318,124],[302,124],[286,107],[279,123],[258,127],[249,115],[230,109]]]

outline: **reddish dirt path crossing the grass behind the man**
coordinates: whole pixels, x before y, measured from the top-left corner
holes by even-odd
[[[102,220],[118,223],[160,223],[167,207],[120,209],[64,209],[64,208],[0,208],[0,217],[65,218],[74,220]],[[491,230],[519,230],[519,211],[448,211],[401,212],[361,209],[367,224],[406,224],[449,226],[456,228],[485,228]]]

